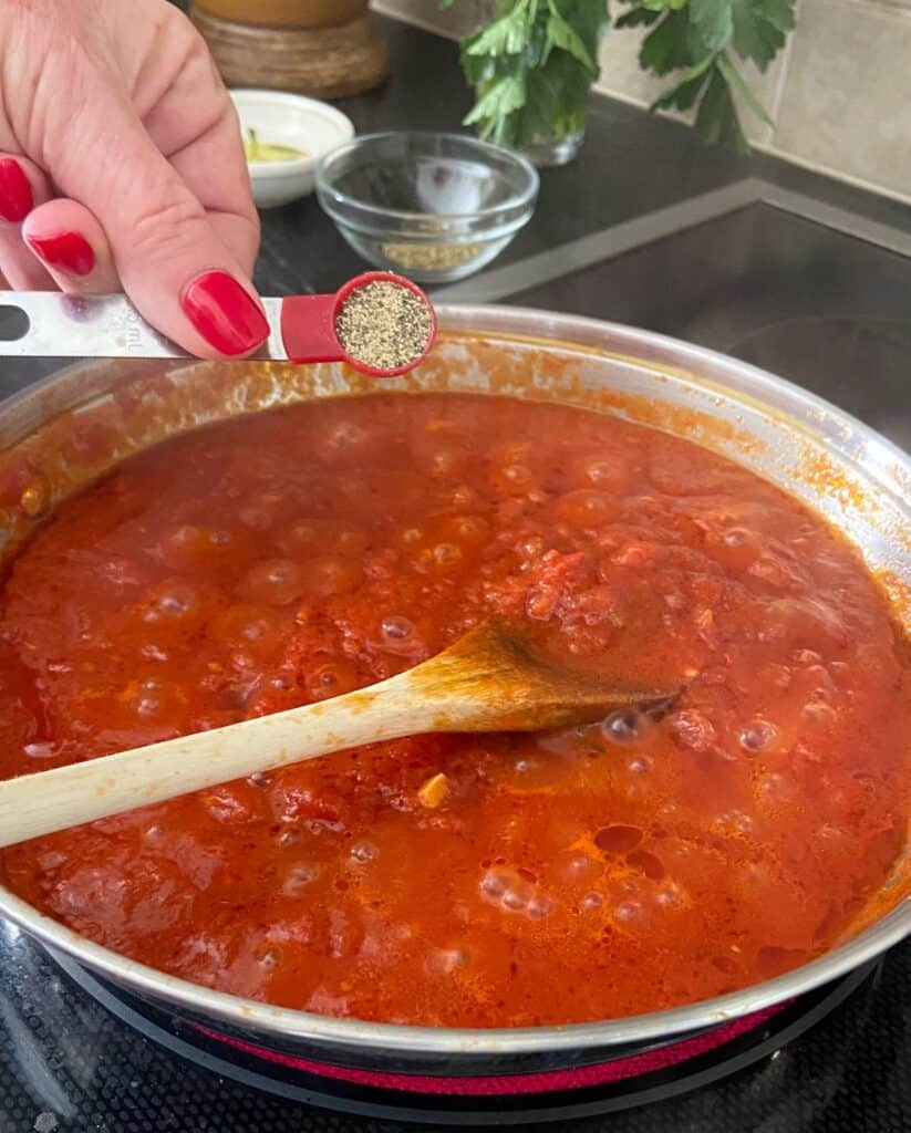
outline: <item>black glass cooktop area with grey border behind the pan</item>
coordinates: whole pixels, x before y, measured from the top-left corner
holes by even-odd
[[[911,450],[911,232],[763,181],[436,291],[629,323],[812,390]]]

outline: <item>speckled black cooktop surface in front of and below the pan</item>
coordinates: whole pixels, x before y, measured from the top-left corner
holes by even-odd
[[[3,1133],[394,1133],[542,1119],[560,1133],[900,1133],[911,1114],[906,946],[675,1070],[535,1096],[518,1111],[495,1098],[390,1101],[199,1041],[5,922],[0,971]]]

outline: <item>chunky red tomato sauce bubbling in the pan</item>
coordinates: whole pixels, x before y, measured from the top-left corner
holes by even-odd
[[[73,929],[238,995],[467,1026],[688,1003],[832,946],[905,841],[908,656],[859,556],[610,416],[223,423],[61,505],[0,598],[3,777],[363,687],[491,614],[686,685],[661,719],[378,743],[0,854]]]

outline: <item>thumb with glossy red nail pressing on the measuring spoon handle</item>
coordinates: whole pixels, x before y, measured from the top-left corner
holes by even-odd
[[[198,198],[114,91],[95,101],[87,119],[78,119],[85,134],[70,138],[51,173],[102,221],[124,290],[139,314],[199,357],[250,353],[269,337],[269,324]],[[230,160],[227,167],[230,176]],[[213,161],[212,178],[223,172]],[[218,215],[222,227],[231,219]],[[247,220],[255,230],[255,213]]]

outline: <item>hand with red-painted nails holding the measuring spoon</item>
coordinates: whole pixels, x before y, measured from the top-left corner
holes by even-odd
[[[204,358],[255,350],[237,116],[167,0],[0,0],[0,287],[125,290]]]

